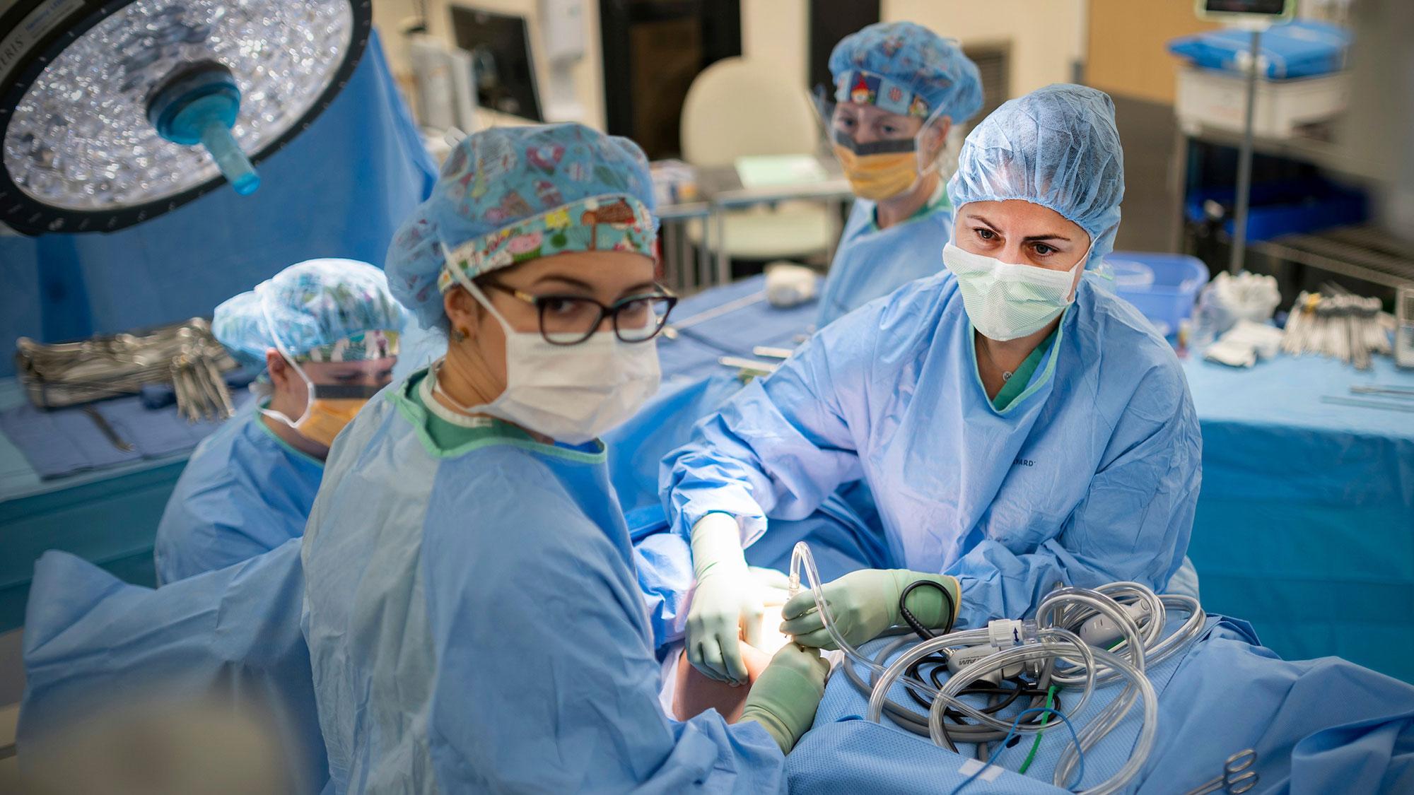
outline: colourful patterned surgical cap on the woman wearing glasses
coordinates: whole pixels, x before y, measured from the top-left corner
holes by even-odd
[[[563,252],[652,255],[652,209],[648,158],[628,139],[583,124],[474,133],[393,236],[387,276],[424,328],[443,327],[441,293],[454,283],[444,266],[475,279]]]

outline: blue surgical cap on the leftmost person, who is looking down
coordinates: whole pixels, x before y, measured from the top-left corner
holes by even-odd
[[[303,361],[396,356],[406,324],[382,270],[352,259],[311,259],[222,303],[211,331],[236,361],[263,371],[266,351],[280,345]]]

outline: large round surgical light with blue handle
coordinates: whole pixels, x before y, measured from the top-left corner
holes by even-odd
[[[112,232],[259,185],[334,100],[370,0],[0,0],[0,222]]]

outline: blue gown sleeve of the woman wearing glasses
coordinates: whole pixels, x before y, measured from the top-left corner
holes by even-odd
[[[662,712],[628,539],[619,549],[523,474],[455,506],[434,491],[428,506],[427,733],[441,791],[785,792],[785,757],[761,726]]]

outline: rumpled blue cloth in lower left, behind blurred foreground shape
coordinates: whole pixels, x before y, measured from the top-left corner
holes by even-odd
[[[75,721],[116,710],[204,703],[269,721],[288,764],[286,792],[320,792],[329,775],[303,596],[298,540],[156,590],[45,552],[24,614],[18,745],[64,745]]]

